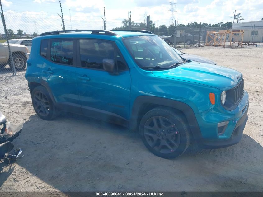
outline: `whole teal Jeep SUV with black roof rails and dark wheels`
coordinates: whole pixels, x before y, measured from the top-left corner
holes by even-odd
[[[40,118],[68,111],[120,124],[163,158],[194,141],[236,144],[247,120],[240,72],[181,59],[148,31],[43,33],[33,39],[25,77]]]

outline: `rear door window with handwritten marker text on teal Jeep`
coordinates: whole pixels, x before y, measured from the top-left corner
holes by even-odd
[[[73,65],[73,40],[56,39],[50,43],[50,60],[55,63]]]

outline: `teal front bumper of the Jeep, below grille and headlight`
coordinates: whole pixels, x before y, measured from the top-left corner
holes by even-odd
[[[215,107],[196,115],[200,128],[200,136],[194,136],[196,142],[202,148],[224,148],[238,143],[243,134],[247,122],[249,101],[245,91],[242,101],[232,111]],[[220,123],[226,123],[223,129],[219,129]]]

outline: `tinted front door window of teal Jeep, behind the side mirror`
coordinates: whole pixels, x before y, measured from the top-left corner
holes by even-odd
[[[114,59],[115,70],[125,70],[126,63],[114,42],[96,39],[79,40],[81,67],[103,69],[103,59]]]

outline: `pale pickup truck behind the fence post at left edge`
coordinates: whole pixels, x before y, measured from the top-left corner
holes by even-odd
[[[23,70],[26,67],[26,60],[29,57],[28,48],[24,45],[9,44],[16,70]],[[11,67],[8,45],[0,43],[0,68],[7,64]]]

